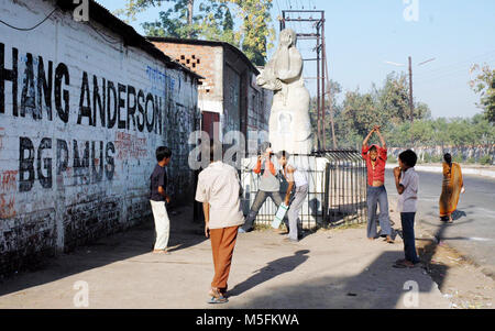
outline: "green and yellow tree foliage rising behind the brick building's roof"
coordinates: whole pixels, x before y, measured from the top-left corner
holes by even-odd
[[[270,15],[273,0],[127,0],[116,13],[134,20],[136,13],[166,2],[174,5],[161,11],[155,22],[143,23],[146,35],[227,42],[241,48],[255,65],[265,65],[275,40]],[[188,8],[195,3],[199,3],[199,10],[189,24]],[[239,29],[235,18],[241,23]]]

